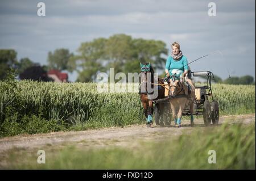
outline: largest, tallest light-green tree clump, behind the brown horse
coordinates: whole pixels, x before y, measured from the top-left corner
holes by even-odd
[[[108,39],[98,38],[82,43],[78,56],[72,58],[77,66],[77,81],[90,82],[96,80],[100,71],[114,68],[115,73],[135,73],[140,71],[139,63],[150,62],[154,68],[164,68],[168,50],[163,41],[133,39],[125,34],[110,36]]]

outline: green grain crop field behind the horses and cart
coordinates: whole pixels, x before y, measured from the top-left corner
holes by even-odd
[[[135,92],[98,92],[97,83],[0,82],[0,136],[144,124]],[[254,85],[213,84],[220,115],[255,112]]]

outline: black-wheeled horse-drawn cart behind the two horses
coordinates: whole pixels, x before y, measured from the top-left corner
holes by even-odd
[[[204,124],[206,126],[212,124],[218,124],[219,109],[217,100],[213,99],[212,94],[212,77],[214,75],[210,71],[194,71],[191,72],[193,77],[205,77],[207,78],[207,85],[195,86],[195,101],[194,111],[190,112],[189,107],[186,107],[182,115],[203,115]],[[170,125],[171,124],[171,108],[169,100],[175,98],[168,94],[168,90],[165,98],[154,100],[154,113],[156,125]],[[212,102],[210,102],[210,99]],[[158,104],[164,104],[164,110],[160,111]],[[162,112],[162,113],[160,113]]]

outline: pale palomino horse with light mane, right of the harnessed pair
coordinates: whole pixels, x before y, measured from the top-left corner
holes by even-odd
[[[182,79],[182,80],[181,80]],[[188,86],[185,85],[183,78],[177,77],[176,74],[171,75],[170,77],[170,104],[172,110],[172,116],[174,116],[175,124],[178,127],[181,127],[181,116],[184,108],[189,106],[189,111],[191,113],[190,120],[191,126],[194,125],[193,122],[193,112],[194,107],[193,103],[195,100],[195,87],[192,84],[192,81],[188,79],[191,90],[188,89]]]

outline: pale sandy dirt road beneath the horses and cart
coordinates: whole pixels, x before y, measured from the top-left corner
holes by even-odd
[[[255,114],[235,115],[220,117],[219,124],[236,124],[242,121],[244,124],[255,123]],[[173,124],[173,123],[172,123]],[[203,119],[195,119],[195,127],[189,126],[190,121],[184,120],[183,127],[156,127],[147,128],[146,125],[130,125],[127,127],[102,128],[79,132],[53,132],[46,134],[20,135],[0,139],[0,154],[10,149],[33,149],[44,146],[58,146],[76,144],[82,146],[108,146],[127,145],[135,140],[157,140],[169,136],[175,137],[182,133],[190,133],[196,129],[205,129]]]

